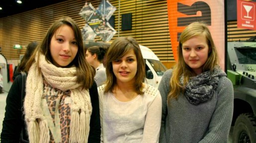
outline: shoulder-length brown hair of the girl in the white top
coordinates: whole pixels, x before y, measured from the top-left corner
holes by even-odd
[[[137,72],[135,74],[134,88],[138,94],[143,94],[143,81],[145,79],[145,62],[143,60],[139,45],[137,41],[132,37],[119,37],[115,39],[107,53],[106,59],[106,74],[107,82],[104,93],[113,92],[117,85],[117,77],[113,72],[113,61],[120,60],[130,50],[133,50],[137,59]]]

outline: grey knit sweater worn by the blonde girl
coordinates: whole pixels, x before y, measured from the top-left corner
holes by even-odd
[[[227,143],[234,104],[232,82],[223,76],[217,95],[194,105],[184,95],[167,105],[172,70],[165,71],[159,84],[162,96],[162,121],[159,143]]]

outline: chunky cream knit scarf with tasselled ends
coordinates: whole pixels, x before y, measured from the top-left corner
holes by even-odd
[[[50,134],[46,117],[41,109],[43,96],[43,78],[54,88],[71,90],[71,123],[69,143],[87,143],[92,113],[91,98],[88,89],[82,89],[76,82],[76,68],[57,68],[46,62],[45,56],[35,57],[26,80],[24,113],[30,143],[49,143]],[[37,62],[41,73],[38,72]],[[49,110],[49,109],[47,109]],[[80,114],[79,114],[80,113]]]

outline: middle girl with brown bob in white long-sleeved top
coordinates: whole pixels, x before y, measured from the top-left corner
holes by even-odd
[[[161,95],[145,79],[145,62],[132,37],[113,41],[106,84],[98,87],[102,143],[158,143]]]

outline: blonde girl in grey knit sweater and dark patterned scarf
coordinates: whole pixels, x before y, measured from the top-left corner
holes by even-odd
[[[234,91],[218,66],[211,33],[193,22],[180,35],[178,63],[165,71],[160,143],[228,143]]]

